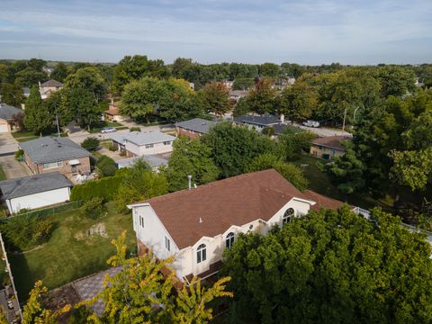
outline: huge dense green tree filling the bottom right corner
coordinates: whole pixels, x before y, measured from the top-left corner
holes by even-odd
[[[239,235],[220,275],[232,278],[237,322],[427,323],[431,252],[399,218],[374,210],[366,220],[346,206]]]

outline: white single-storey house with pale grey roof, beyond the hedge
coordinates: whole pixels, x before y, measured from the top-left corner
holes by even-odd
[[[174,136],[160,131],[131,131],[112,136],[112,145],[127,157],[142,157],[170,153],[173,151]]]

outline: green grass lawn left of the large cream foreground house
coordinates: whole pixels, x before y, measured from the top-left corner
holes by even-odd
[[[106,260],[115,252],[111,240],[125,229],[128,249],[136,252],[131,215],[116,212],[112,202],[107,204],[107,213],[97,220],[81,216],[78,210],[48,217],[56,222],[56,229],[47,243],[20,254],[8,254],[22,302],[37,280],[53,289],[108,268]],[[86,231],[98,223],[104,224],[107,237],[87,236]]]

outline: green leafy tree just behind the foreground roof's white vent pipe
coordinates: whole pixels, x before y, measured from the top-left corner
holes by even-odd
[[[165,174],[169,191],[175,192],[187,188],[188,175],[192,175],[193,184],[207,184],[216,180],[220,171],[211,159],[211,148],[200,139],[180,137],[174,142]]]

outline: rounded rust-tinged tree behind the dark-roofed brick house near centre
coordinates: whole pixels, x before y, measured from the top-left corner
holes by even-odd
[[[204,112],[214,112],[221,116],[231,110],[229,88],[220,82],[204,85],[199,95]]]

